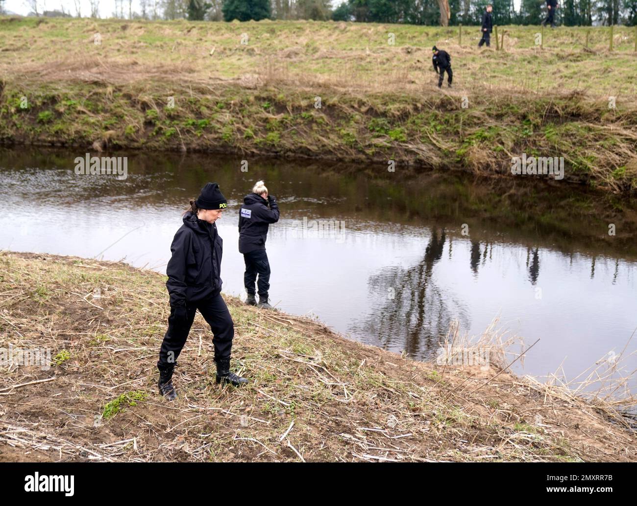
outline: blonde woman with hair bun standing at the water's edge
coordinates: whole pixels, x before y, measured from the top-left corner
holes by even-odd
[[[268,208],[269,206],[269,208]],[[257,306],[255,299],[255,281],[259,276],[259,307],[275,309],[268,302],[270,288],[270,264],[266,253],[266,239],[270,223],[276,223],[279,209],[276,199],[269,195],[263,181],[257,181],[243,198],[243,206],[239,211],[239,253],[243,253],[245,273],[243,285],[248,293],[245,303]]]

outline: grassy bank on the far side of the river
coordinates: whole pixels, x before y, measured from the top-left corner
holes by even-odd
[[[634,30],[615,27],[612,52],[606,27],[588,48],[585,28],[547,30],[543,49],[538,27],[503,30],[496,52],[477,50],[475,27],[460,45],[457,27],[0,18],[0,142],[508,177],[527,153],[564,157],[566,181],[634,193]],[[434,44],[452,54],[452,90],[434,85]]]

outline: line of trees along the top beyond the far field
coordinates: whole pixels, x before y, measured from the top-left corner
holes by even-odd
[[[338,0],[336,0],[338,2]],[[209,21],[334,20],[352,22],[403,23],[413,25],[478,25],[485,6],[493,5],[497,25],[537,25],[546,15],[542,0],[343,0],[334,8],[330,0],[139,0],[140,12],[132,10],[132,0],[114,0],[111,17]],[[34,15],[39,0],[27,0]],[[90,13],[99,17],[99,0],[90,0]],[[556,21],[566,26],[637,25],[637,0],[559,0]],[[0,0],[0,11],[3,0]],[[52,11],[58,12],[58,11]],[[442,13],[442,14],[441,14]],[[73,13],[61,12],[62,15]]]

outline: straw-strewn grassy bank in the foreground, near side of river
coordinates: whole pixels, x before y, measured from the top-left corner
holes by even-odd
[[[226,297],[241,388],[214,381],[197,316],[156,392],[164,276],[125,264],[0,254],[0,347],[54,366],[3,366],[0,461],[634,461],[612,403],[480,367],[436,366],[347,341],[317,321]],[[95,295],[99,295],[96,297]]]

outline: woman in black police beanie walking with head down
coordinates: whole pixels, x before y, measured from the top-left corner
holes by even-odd
[[[226,206],[219,185],[207,183],[199,198],[190,200],[190,208],[183,213],[183,225],[170,247],[172,257],[166,267],[170,316],[157,362],[159,393],[169,400],[177,397],[172,383],[173,370],[197,309],[213,333],[217,383],[234,386],[248,383],[247,379],[230,372],[234,323],[221,297],[223,241],[215,225]]]

